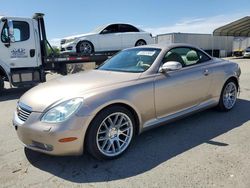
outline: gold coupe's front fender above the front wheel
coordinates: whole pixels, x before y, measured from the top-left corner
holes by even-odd
[[[81,113],[85,116],[95,116],[110,105],[127,105],[137,114],[140,133],[143,129],[143,124],[155,118],[153,82],[149,81],[134,85],[126,83],[127,85],[125,86],[123,84],[120,86],[106,86],[86,93],[84,95],[84,103],[88,108],[82,109]],[[144,100],[141,100],[142,98]]]

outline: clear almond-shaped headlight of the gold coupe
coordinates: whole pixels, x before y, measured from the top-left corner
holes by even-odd
[[[41,121],[47,123],[59,123],[67,120],[74,114],[83,103],[82,98],[74,98],[64,101],[55,107],[48,110],[43,116]]]

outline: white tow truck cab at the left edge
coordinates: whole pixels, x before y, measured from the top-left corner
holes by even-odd
[[[0,17],[0,90],[3,80],[11,86],[40,82],[42,65],[38,21]]]

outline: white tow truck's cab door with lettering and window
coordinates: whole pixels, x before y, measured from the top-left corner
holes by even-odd
[[[37,67],[38,59],[32,20],[13,20],[15,42],[8,46],[7,23],[1,22],[1,60],[10,68]]]

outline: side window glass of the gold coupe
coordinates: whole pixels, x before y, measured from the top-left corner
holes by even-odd
[[[210,60],[203,52],[192,48],[173,48],[167,52],[163,62],[177,61],[182,64],[183,67],[195,65]]]

